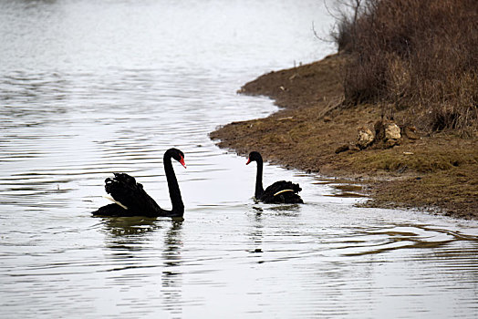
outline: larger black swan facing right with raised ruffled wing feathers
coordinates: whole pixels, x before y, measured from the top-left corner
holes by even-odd
[[[163,163],[172,209],[166,211],[151,199],[150,195],[143,190],[142,185],[134,180],[134,177],[125,173],[114,173],[113,179],[105,180],[105,190],[111,194],[113,204],[100,207],[93,211],[95,216],[147,216],[147,217],[182,217],[184,204],[182,203],[181,191],[178,180],[172,169],[171,158],[179,161],[184,168],[184,154],[179,149],[168,149],[164,153]]]

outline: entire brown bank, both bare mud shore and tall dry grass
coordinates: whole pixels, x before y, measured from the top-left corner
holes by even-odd
[[[211,137],[240,154],[367,180],[369,205],[477,219],[478,2],[339,3],[340,53],[247,83],[241,93],[282,109]]]

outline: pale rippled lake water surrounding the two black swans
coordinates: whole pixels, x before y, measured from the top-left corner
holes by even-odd
[[[275,111],[245,82],[333,52],[312,23],[322,1],[1,1],[0,317],[476,318],[477,222],[270,165],[307,203],[255,204],[208,138]],[[112,171],[170,208],[171,147],[184,221],[91,217]]]

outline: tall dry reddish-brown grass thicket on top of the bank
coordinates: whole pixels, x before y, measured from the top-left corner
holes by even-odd
[[[478,1],[342,0],[348,104],[407,109],[426,130],[478,131]]]

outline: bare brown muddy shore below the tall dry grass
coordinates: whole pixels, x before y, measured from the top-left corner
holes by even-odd
[[[211,133],[222,148],[299,170],[363,180],[369,206],[424,208],[453,217],[478,219],[478,139],[452,133],[415,131],[393,148],[354,145],[359,127],[373,129],[376,105],[344,108],[341,72],[345,56],[271,72],[240,93],[275,99],[281,109],[268,118],[234,122]],[[412,123],[405,111],[400,123]],[[346,148],[347,149],[347,148]]]

